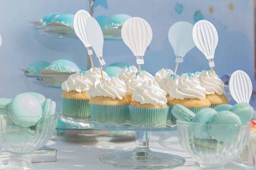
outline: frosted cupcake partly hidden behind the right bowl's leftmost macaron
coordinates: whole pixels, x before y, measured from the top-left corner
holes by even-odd
[[[191,73],[182,74],[180,77],[173,76],[175,85],[169,90],[170,108],[180,104],[197,113],[211,104],[206,98],[206,89],[201,87],[198,79]],[[177,78],[176,78],[177,77]],[[176,124],[176,118],[171,115],[173,124]]]

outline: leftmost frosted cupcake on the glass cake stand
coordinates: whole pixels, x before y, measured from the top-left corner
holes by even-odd
[[[88,90],[93,81],[86,77],[85,72],[78,71],[62,83],[62,110],[63,115],[74,118],[89,118],[90,105]]]

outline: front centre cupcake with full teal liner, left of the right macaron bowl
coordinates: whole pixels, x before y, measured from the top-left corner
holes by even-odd
[[[166,124],[169,110],[166,103],[166,92],[159,87],[156,81],[148,80],[138,84],[129,106],[131,124]]]

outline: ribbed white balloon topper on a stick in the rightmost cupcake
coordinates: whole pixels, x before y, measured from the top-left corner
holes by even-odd
[[[213,58],[218,45],[218,32],[216,28],[207,20],[198,21],[193,28],[193,40],[197,48],[209,60],[209,66],[213,74],[212,67],[215,66]]]

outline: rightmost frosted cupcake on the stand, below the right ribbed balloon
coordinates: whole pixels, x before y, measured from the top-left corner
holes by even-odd
[[[211,108],[215,108],[217,105],[227,104],[228,99],[224,96],[224,83],[218,78],[217,74],[212,71],[202,71],[198,80],[200,85],[206,89],[206,98],[211,103]]]

